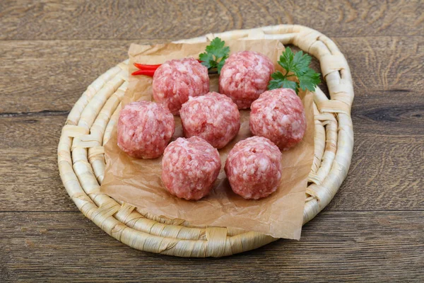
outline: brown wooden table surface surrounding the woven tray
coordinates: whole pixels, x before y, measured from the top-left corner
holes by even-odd
[[[423,1],[0,2],[0,282],[424,282]],[[73,103],[131,42],[298,23],[351,67],[355,147],[334,200],[228,258],[125,246],[83,217],[57,169]]]

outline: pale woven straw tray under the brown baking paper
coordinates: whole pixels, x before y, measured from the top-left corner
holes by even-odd
[[[338,47],[325,35],[301,25],[232,30],[179,42],[276,39],[319,59],[331,99],[314,92],[314,163],[309,175],[303,222],[314,218],[336,194],[351,164],[353,129],[351,71]],[[103,144],[117,121],[128,81],[128,60],[88,86],[69,113],[58,148],[61,180],[78,209],[102,230],[139,250],[181,257],[220,257],[252,250],[276,238],[223,227],[190,226],[187,221],[141,214],[100,192],[105,173]]]

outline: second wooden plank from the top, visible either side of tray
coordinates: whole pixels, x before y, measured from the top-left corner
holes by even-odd
[[[0,41],[0,114],[71,110],[92,81],[126,59],[131,42]],[[351,67],[354,105],[362,105],[360,98],[367,103],[382,96],[397,103],[401,95],[416,105],[418,97],[423,99],[424,37],[339,37],[336,42]],[[313,66],[319,70],[317,60]]]

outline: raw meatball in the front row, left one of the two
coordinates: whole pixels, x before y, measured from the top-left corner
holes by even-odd
[[[200,200],[211,191],[220,168],[218,150],[211,144],[199,137],[180,137],[165,149],[162,180],[172,195]]]

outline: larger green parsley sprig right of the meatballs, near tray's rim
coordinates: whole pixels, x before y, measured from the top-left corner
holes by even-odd
[[[311,57],[308,54],[303,54],[302,51],[293,53],[290,47],[286,47],[285,51],[281,54],[278,64],[285,69],[285,74],[281,71],[276,71],[271,74],[271,81],[269,81],[268,89],[275,88],[292,88],[299,92],[299,88],[303,91],[306,89],[314,91],[318,83],[320,74],[309,67]],[[289,74],[289,73],[293,74]],[[289,81],[290,76],[297,76],[299,82]]]

